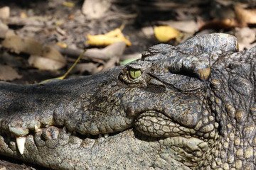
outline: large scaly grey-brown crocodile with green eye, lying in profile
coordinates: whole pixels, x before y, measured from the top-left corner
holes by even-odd
[[[0,154],[50,169],[256,169],[256,47],[154,45],[106,72],[0,83]]]

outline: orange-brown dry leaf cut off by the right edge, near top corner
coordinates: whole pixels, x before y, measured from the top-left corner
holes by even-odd
[[[235,15],[240,22],[248,24],[256,23],[256,9],[244,9],[239,6],[235,6]]]

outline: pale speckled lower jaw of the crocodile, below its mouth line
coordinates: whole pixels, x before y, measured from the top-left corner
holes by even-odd
[[[144,152],[144,149],[149,152]],[[171,150],[180,152],[181,156],[176,157]],[[206,150],[208,143],[196,137],[149,137],[128,129],[106,138],[99,135],[82,139],[61,128],[48,127],[26,136],[23,154],[20,154],[14,137],[0,136],[0,154],[51,169],[87,169],[94,166],[97,169],[117,166],[118,169],[135,164],[138,169],[146,166],[175,169],[176,165],[189,169],[188,166],[198,164]],[[181,157],[184,162],[179,161]],[[172,165],[172,162],[176,164]]]

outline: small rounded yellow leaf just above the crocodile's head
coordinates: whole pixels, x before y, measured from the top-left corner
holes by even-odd
[[[154,28],[154,33],[157,40],[161,42],[166,42],[171,39],[178,38],[178,35],[181,32],[169,26],[158,26]]]

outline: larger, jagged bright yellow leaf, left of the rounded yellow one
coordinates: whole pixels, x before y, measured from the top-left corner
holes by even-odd
[[[111,45],[114,42],[122,42],[124,41],[127,46],[131,46],[132,43],[129,42],[126,38],[124,38],[124,35],[122,34],[121,30],[119,28],[110,31],[109,33],[103,34],[103,35],[90,35],[87,34],[88,45],[95,45],[95,46],[107,46]]]

